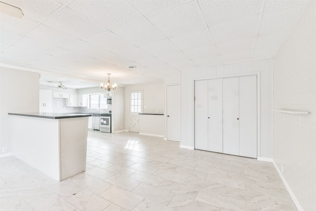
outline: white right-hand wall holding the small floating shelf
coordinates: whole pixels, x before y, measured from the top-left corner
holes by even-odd
[[[316,1],[312,1],[274,57],[273,159],[299,210],[316,210]],[[293,197],[292,197],[293,198]],[[295,198],[298,200],[296,201]],[[302,208],[302,209],[301,209]]]

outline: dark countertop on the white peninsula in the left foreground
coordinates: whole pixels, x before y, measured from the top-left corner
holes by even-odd
[[[8,113],[9,115],[25,116],[25,117],[36,117],[45,119],[67,119],[67,118],[78,118],[78,117],[91,117],[91,114],[63,114],[63,113]]]

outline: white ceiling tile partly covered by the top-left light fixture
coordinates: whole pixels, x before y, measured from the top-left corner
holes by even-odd
[[[23,18],[40,22],[61,5],[53,0],[5,0],[6,3],[19,7]]]

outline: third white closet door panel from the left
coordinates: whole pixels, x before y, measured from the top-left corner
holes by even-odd
[[[223,79],[223,153],[239,155],[238,78]]]

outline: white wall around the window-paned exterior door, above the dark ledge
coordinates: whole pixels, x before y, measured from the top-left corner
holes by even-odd
[[[129,92],[143,91],[143,113],[163,114],[164,108],[164,86],[163,82],[148,84],[133,84],[125,86],[125,129],[129,128]],[[146,108],[145,108],[146,106]]]

